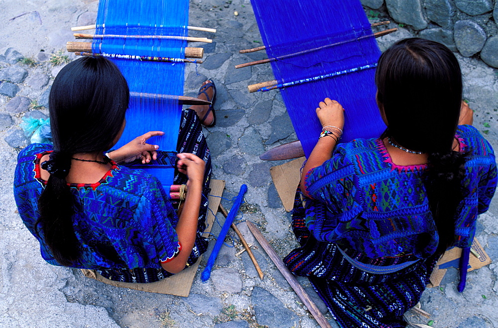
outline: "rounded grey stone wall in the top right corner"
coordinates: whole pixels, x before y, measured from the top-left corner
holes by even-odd
[[[418,37],[498,68],[498,0],[361,1],[369,18],[388,15]]]

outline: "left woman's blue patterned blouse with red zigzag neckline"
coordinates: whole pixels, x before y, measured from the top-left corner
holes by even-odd
[[[40,242],[43,259],[60,265],[35,233],[38,198],[46,184],[40,176],[40,158],[52,150],[34,143],[17,156],[14,197],[22,221]],[[159,181],[142,170],[113,162],[94,184],[71,184],[77,202],[73,215],[81,257],[76,268],[160,268],[159,261],[175,256],[178,218]],[[98,249],[98,250],[97,250]]]

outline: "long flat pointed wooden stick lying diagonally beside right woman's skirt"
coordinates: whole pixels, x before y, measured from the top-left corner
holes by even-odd
[[[315,303],[313,303],[313,301],[306,293],[304,288],[299,284],[294,275],[292,275],[292,273],[290,273],[290,271],[287,269],[280,256],[278,256],[273,247],[271,247],[270,243],[261,234],[261,231],[259,231],[256,225],[254,225],[254,223],[252,223],[251,221],[247,220],[246,223],[248,224],[249,229],[254,235],[254,237],[256,237],[257,241],[259,241],[261,246],[266,251],[266,254],[268,254],[273,263],[275,263],[277,269],[282,273],[282,275],[285,277],[285,280],[287,280],[290,287],[292,287],[294,292],[296,292],[297,296],[299,296],[301,301],[303,301],[304,305],[306,305],[308,311],[311,313],[313,318],[315,318],[320,327],[332,328],[332,326],[330,326],[330,324],[328,323],[327,319],[325,319],[320,310],[318,310]]]

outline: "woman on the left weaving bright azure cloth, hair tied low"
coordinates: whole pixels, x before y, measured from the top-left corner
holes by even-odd
[[[163,132],[106,154],[123,132],[128,99],[111,61],[86,57],[66,65],[50,91],[53,147],[31,144],[19,153],[14,196],[48,263],[153,282],[183,270],[207,248],[211,159],[195,111],[184,110],[174,184],[187,184],[188,193],[178,218],[155,177],[122,165],[156,159],[158,146],[146,141]]]

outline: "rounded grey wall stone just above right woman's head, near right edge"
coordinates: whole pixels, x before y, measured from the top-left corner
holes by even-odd
[[[468,19],[455,23],[453,37],[458,51],[464,57],[470,57],[481,51],[487,39],[484,29]]]

